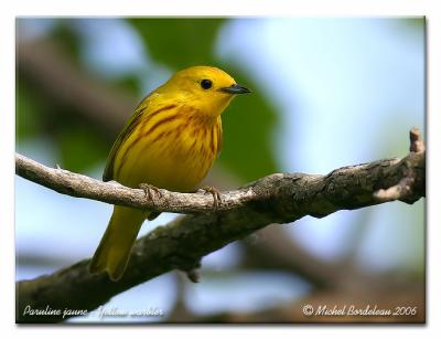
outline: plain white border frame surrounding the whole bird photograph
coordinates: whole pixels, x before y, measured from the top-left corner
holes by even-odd
[[[10,3],[8,3],[10,2]],[[1,133],[0,133],[0,188],[2,192],[0,209],[0,292],[4,297],[0,304],[0,330],[4,338],[47,338],[49,335],[77,338],[93,332],[94,336],[106,338],[120,338],[121,336],[182,336],[191,335],[192,338],[206,338],[209,336],[224,337],[228,331],[254,336],[254,338],[267,338],[269,331],[279,335],[308,335],[308,336],[342,336],[353,338],[362,336],[372,338],[383,331],[394,330],[394,336],[399,338],[412,338],[415,336],[434,336],[440,329],[441,311],[439,309],[441,296],[441,258],[439,241],[441,240],[440,211],[433,206],[441,201],[440,188],[440,135],[435,126],[441,127],[441,10],[437,0],[345,0],[345,1],[299,1],[294,0],[162,0],[162,1],[136,1],[136,0],[17,0],[2,1],[0,4],[1,25],[1,91],[0,103]],[[438,9],[438,12],[437,12]],[[15,66],[14,66],[14,36],[15,17],[18,15],[261,15],[261,17],[370,17],[370,15],[427,15],[428,21],[428,125],[427,142],[429,145],[428,165],[428,200],[427,213],[427,246],[428,246],[428,282],[427,282],[427,326],[271,326],[271,327],[176,327],[176,326],[150,326],[150,327],[90,327],[90,326],[17,326],[14,325],[14,110],[15,110]],[[438,156],[435,156],[438,153]],[[438,174],[438,176],[437,176]],[[191,333],[187,332],[191,330]],[[99,331],[99,333],[97,332]],[[295,333],[293,333],[293,331]],[[331,331],[331,332],[330,332]],[[417,333],[424,331],[424,333]],[[390,335],[390,333],[389,333]]]

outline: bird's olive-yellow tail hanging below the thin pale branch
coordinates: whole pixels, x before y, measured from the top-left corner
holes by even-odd
[[[90,261],[90,273],[107,271],[114,282],[122,277],[146,216],[144,212],[136,209],[114,208],[106,233]]]

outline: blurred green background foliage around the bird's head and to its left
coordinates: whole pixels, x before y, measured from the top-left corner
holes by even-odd
[[[171,72],[192,65],[215,65],[240,84],[252,88],[252,94],[240,97],[224,114],[224,147],[218,162],[241,181],[250,181],[277,170],[270,135],[277,123],[273,107],[261,95],[251,77],[237,64],[222,62],[215,54],[215,44],[227,19],[127,19],[141,36],[149,57]],[[60,21],[49,40],[61,49],[65,57],[87,73],[79,55],[85,44],[78,36],[74,19]],[[92,72],[94,74],[94,72]],[[111,86],[133,98],[133,108],[147,93],[139,88],[139,77],[98,78],[103,86]],[[18,72],[17,141],[44,137],[57,150],[60,166],[85,172],[104,163],[116,138],[115,130],[106,130],[85,119],[76,107],[54,102],[40,91],[26,72]],[[131,114],[130,112],[127,115]],[[121,125],[122,128],[122,125]]]

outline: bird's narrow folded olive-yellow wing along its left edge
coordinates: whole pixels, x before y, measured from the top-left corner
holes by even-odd
[[[118,153],[120,146],[123,144],[123,141],[127,140],[127,138],[133,131],[135,127],[138,125],[139,119],[144,114],[144,110],[149,106],[151,96],[152,96],[152,94],[148,95],[141,102],[141,104],[139,104],[137,109],[135,109],[135,113],[132,114],[132,116],[126,123],[125,127],[122,128],[122,131],[118,135],[118,138],[114,142],[114,146],[111,147],[109,157],[107,158],[106,168],[105,168],[104,174],[103,174],[103,181],[110,181],[110,180],[115,179],[114,178],[114,163],[115,163],[116,155]]]

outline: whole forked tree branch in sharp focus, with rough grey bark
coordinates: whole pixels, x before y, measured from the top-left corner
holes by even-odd
[[[412,131],[411,152],[402,159],[348,166],[327,176],[271,174],[222,193],[217,208],[207,194],[160,190],[161,197],[149,200],[142,190],[51,169],[17,155],[19,176],[60,193],[155,212],[194,213],[139,239],[127,272],[118,283],[109,280],[106,274],[90,275],[88,259],[51,275],[18,282],[17,320],[52,322],[69,317],[24,315],[26,306],[90,311],[112,296],[171,269],[192,272],[203,256],[271,223],[293,222],[305,215],[323,218],[338,210],[391,200],[413,203],[426,194],[426,153],[420,147],[419,131],[417,138]],[[396,186],[405,189],[381,193]]]

